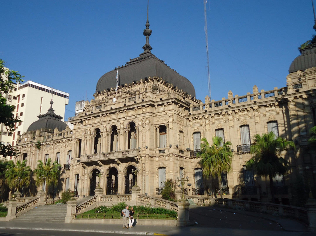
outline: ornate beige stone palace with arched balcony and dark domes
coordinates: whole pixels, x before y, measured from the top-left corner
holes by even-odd
[[[296,145],[280,153],[290,169],[275,177],[276,200],[289,203],[298,176],[310,177],[314,185],[316,162],[306,145],[308,131],[316,125],[315,44],[292,62],[286,87],[264,91],[253,86],[244,96],[229,91],[220,101],[208,96],[200,101],[189,80],[151,53],[150,34],[147,20],[143,53],[99,79],[94,99],[71,121],[73,130],[42,122],[18,138],[19,158],[26,158],[32,169],[47,158],[62,164],[57,194],[69,188],[80,197],[93,196],[96,186],[106,195],[130,194],[137,168],[141,194],[159,195],[167,178],[184,174],[189,177],[186,194],[214,196],[219,194],[217,181],[203,178],[196,154],[201,138],[211,142],[221,136],[234,149],[232,171],[222,176],[225,197],[268,201],[268,179],[247,170],[245,162],[252,157],[254,135],[270,131]],[[52,113],[51,107],[46,115]],[[48,120],[55,119],[58,127],[62,121],[54,117]]]

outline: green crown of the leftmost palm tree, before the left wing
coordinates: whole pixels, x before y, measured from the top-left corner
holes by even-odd
[[[31,180],[31,167],[26,165],[27,160],[20,162],[19,160],[14,164],[11,160],[8,163],[8,168],[4,173],[9,188],[14,192],[19,191],[20,186],[28,187]]]

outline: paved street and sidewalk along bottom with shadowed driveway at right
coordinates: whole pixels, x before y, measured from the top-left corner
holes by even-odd
[[[307,227],[300,221],[256,212],[234,209],[196,207],[190,209],[190,219],[197,224],[191,227],[144,226],[123,229],[122,225],[54,224],[0,221],[0,235],[256,235],[256,236],[309,236]],[[33,233],[32,233],[33,232]]]

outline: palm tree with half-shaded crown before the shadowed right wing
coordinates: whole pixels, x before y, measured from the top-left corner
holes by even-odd
[[[275,203],[273,177],[277,174],[286,174],[289,165],[289,162],[280,157],[277,152],[289,147],[295,148],[295,144],[282,137],[276,137],[272,131],[262,135],[256,134],[253,140],[255,144],[250,147],[250,152],[254,156],[246,162],[246,166],[248,168],[254,166],[259,176],[269,177],[272,203]]]

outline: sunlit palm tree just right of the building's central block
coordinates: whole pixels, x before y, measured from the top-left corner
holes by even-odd
[[[230,141],[223,144],[222,137],[218,136],[213,137],[213,145],[211,146],[206,138],[202,138],[201,142],[201,153],[198,153],[197,156],[201,157],[203,175],[205,178],[217,178],[221,198],[223,198],[222,174],[231,170],[233,152],[230,145],[232,144]]]

